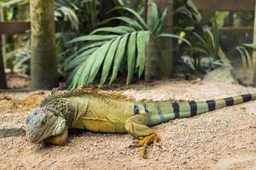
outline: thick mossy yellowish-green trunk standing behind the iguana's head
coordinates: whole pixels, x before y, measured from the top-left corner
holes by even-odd
[[[55,58],[54,0],[31,0],[32,90],[55,88],[58,84]]]

